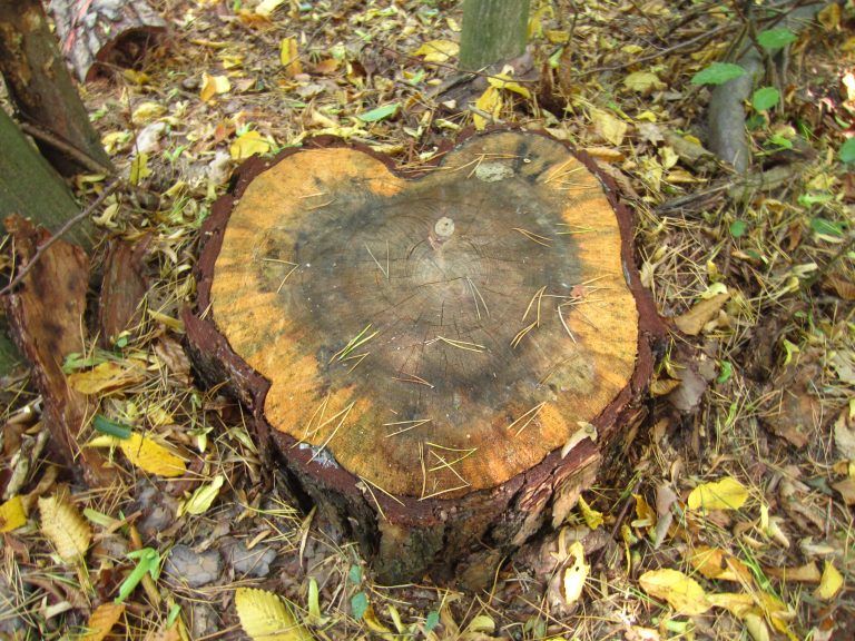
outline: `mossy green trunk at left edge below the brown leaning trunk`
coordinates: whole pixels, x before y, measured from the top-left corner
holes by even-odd
[[[0,221],[18,214],[56,231],[79,211],[62,179],[0,109]],[[91,235],[91,224],[83,220],[65,237],[88,248]]]

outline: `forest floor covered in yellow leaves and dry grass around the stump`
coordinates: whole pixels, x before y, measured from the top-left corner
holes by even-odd
[[[491,105],[479,102],[483,78],[454,101],[438,96],[455,73],[454,2],[294,1],[269,16],[258,4],[161,0],[169,40],[138,69],[81,89],[139,187],[110,197],[96,223],[145,243],[149,293],[137,327],[110,348],[92,342],[67,372],[100,415],[189,463],[169,480],[116,450],[110,491],[65,485],[45,460],[26,372],[4,381],[14,485],[3,499],[19,492],[32,512],[3,534],[0,637],[67,639],[89,621],[108,639],[245,639],[235,591],[258,588],[296,619],[276,639],[852,639],[855,174],[841,159],[855,130],[852,3],[799,26],[766,82],[780,100],[747,107],[748,178],[705,149],[710,89],[691,82],[743,32],[728,2],[532,2],[538,80]],[[589,509],[542,543],[552,554],[535,556],[549,563],[509,562],[479,594],[383,586],[354,545],[289,503],[239,408],[194,386],[180,309],[193,302],[199,226],[240,159],[332,134],[412,166],[472,126],[473,105],[586,149],[617,180],[670,347],[650,420],[584,493]],[[108,180],[82,176],[77,188],[91,199]],[[687,505],[723,481],[729,504]],[[35,507],[63,487],[95,536],[77,564],[53,553]],[[590,565],[578,596],[572,541]],[[127,556],[140,542],[163,572],[90,619],[150,565]]]

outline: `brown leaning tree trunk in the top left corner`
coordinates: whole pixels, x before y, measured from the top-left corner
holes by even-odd
[[[37,144],[60,174],[111,168],[39,0],[0,1],[0,72],[21,122],[47,134]]]

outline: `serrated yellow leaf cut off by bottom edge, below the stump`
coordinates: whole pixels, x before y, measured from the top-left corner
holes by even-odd
[[[312,641],[291,608],[273,592],[238,588],[235,609],[240,627],[253,641]]]

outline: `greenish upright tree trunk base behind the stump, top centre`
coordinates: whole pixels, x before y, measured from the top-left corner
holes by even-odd
[[[464,0],[460,68],[476,71],[522,56],[528,21],[529,0]]]

